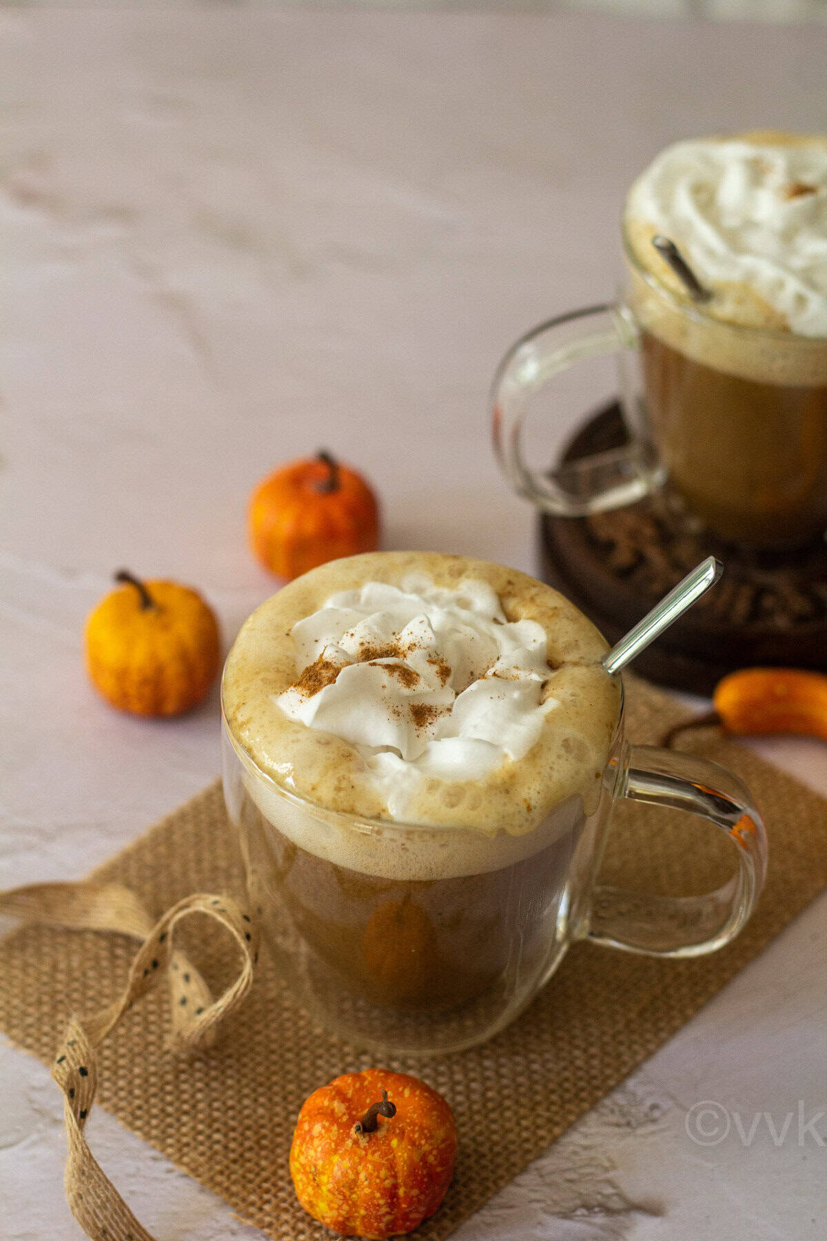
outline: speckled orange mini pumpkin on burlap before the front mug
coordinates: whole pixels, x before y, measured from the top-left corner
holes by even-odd
[[[343,1236],[410,1232],[433,1215],[454,1174],[456,1126],[435,1090],[366,1069],[322,1086],[299,1113],[290,1175],[315,1220]]]

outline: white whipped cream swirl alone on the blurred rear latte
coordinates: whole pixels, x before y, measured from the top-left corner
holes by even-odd
[[[827,141],[674,143],[626,216],[671,237],[702,284],[746,285],[801,336],[827,336]]]

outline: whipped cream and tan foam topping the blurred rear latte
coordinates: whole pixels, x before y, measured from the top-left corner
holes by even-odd
[[[656,233],[676,242],[708,303],[691,302]],[[629,191],[624,235],[632,307],[666,344],[758,382],[827,381],[827,138],[676,143]],[[774,333],[771,346],[744,328]]]

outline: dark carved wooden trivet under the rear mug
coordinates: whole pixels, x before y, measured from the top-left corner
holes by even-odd
[[[595,414],[565,460],[617,448],[626,439],[620,407]],[[710,553],[724,576],[635,660],[661,685],[710,694],[736,668],[782,665],[827,671],[827,545],[754,552],[710,535],[667,493],[590,517],[539,517],[542,568],[616,642]]]

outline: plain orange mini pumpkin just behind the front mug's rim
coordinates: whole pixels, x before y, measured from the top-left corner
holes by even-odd
[[[250,498],[248,527],[257,560],[288,580],[329,560],[379,546],[373,491],[325,452],[283,465],[259,483]]]

